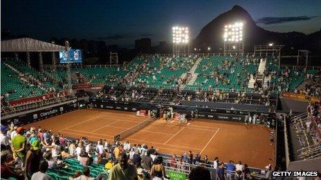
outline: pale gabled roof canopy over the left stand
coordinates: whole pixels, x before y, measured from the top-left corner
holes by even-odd
[[[64,46],[28,37],[1,41],[1,52],[56,52]]]

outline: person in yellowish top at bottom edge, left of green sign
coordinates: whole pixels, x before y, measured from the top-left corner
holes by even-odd
[[[109,172],[109,180],[137,180],[137,170],[133,164],[128,163],[126,153],[120,153],[118,156],[118,164],[113,166]]]

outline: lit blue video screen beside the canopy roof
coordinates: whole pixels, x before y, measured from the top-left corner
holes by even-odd
[[[60,63],[82,63],[82,51],[81,50],[62,50],[59,51]]]

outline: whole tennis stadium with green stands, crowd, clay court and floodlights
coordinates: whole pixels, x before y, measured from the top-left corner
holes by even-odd
[[[86,64],[68,41],[1,41],[1,179],[321,172],[321,67],[281,64],[282,45],[246,52],[245,26],[237,40],[223,26],[218,53],[194,53],[174,26],[172,54],[122,64]]]

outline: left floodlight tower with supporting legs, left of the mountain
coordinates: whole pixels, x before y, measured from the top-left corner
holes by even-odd
[[[174,26],[173,34],[173,55],[190,54],[192,40],[191,31],[188,27]]]

